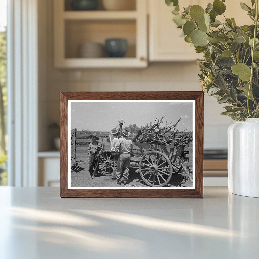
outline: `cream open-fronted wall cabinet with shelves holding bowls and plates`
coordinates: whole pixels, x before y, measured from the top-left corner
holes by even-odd
[[[56,68],[147,67],[147,0],[135,1],[135,10],[73,11],[69,0],[55,0],[54,65]],[[107,38],[127,40],[125,57],[81,57],[82,44],[104,47]]]

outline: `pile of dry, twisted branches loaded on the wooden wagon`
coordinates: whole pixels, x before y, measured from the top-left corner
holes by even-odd
[[[166,116],[166,115],[165,115]],[[174,125],[172,122],[166,126],[161,126],[163,124],[163,118],[156,118],[154,124],[140,130],[137,136],[135,137],[135,142],[145,142],[150,144],[160,144],[160,145],[171,145],[171,142],[175,142],[175,146],[186,146],[189,142],[192,141],[192,135],[189,132],[186,132],[188,128],[183,131],[177,129],[177,124],[181,119],[177,121]]]

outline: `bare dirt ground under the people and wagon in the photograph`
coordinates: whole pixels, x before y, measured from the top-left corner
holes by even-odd
[[[111,175],[103,176],[98,174],[98,177],[94,179],[89,178],[89,165],[87,162],[80,166],[71,167],[71,187],[150,187],[142,180],[140,174],[135,172],[136,169],[131,164],[128,183],[124,186],[123,183],[118,185],[117,180],[113,180]],[[171,180],[164,187],[192,187],[191,181],[185,176],[186,174],[183,170],[179,174],[173,174]]]

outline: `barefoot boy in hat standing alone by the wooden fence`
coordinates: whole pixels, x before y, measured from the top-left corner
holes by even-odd
[[[89,178],[94,178],[98,174],[98,164],[99,164],[99,157],[100,154],[103,152],[103,148],[99,141],[99,138],[96,134],[92,134],[91,136],[92,142],[89,144],[88,147],[88,155],[89,155]]]

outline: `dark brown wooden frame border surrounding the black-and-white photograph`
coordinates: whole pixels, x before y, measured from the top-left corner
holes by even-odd
[[[193,189],[69,189],[69,100],[193,100],[195,103],[195,186]],[[203,92],[60,92],[60,197],[62,198],[203,198]]]

